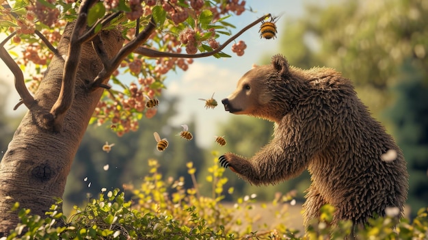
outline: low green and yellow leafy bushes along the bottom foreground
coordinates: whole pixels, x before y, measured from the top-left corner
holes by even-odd
[[[217,160],[213,159],[206,176],[211,183],[211,197],[200,196],[193,163],[187,163],[187,171],[194,187],[185,189],[183,177],[163,179],[158,172],[159,163],[152,159],[148,162],[150,174],[133,191],[132,200],[126,201],[119,189],[103,188],[98,198],[91,199],[83,209],[75,206],[69,219],[60,211],[61,200],[44,218],[21,209],[21,223],[3,239],[343,239],[351,232],[352,224],[348,221],[330,226],[334,214],[330,205],[323,206],[319,221],[308,228],[304,237],[282,224],[253,230],[254,219],[236,213],[239,209],[250,211],[255,197],[239,198],[233,208],[224,206],[221,200],[228,178]],[[172,194],[168,194],[168,189]],[[16,203],[12,210],[18,208]],[[394,213],[371,219],[370,226],[356,229],[357,239],[427,239],[427,211],[428,208],[420,209],[412,223],[408,219],[399,222]]]

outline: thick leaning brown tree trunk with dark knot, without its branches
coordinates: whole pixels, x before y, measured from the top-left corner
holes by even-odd
[[[34,96],[36,105],[24,116],[0,162],[0,232],[5,234],[14,229],[19,220],[17,213],[10,211],[14,202],[44,217],[55,203],[54,197],[62,197],[72,160],[103,94],[103,88],[94,92],[87,88],[103,68],[92,44],[87,42],[77,69],[75,98],[61,131],[53,132],[41,124],[41,113],[49,112],[59,95],[63,57],[68,52],[73,26],[66,26],[58,45],[62,57],[53,57]],[[110,58],[118,53],[123,44],[120,32],[102,31],[100,36]]]

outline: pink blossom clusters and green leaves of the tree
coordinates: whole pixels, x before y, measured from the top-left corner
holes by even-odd
[[[87,14],[79,12],[84,6],[89,8]],[[146,103],[161,95],[170,70],[187,70],[193,62],[190,55],[213,52],[211,55],[217,58],[230,57],[221,51],[224,46],[217,40],[230,36],[230,29],[235,27],[227,21],[229,14],[240,15],[244,11],[245,1],[239,0],[6,1],[0,5],[0,33],[10,34],[9,44],[13,48],[8,53],[29,74],[25,81],[34,93],[67,23],[87,16],[86,25],[93,27],[94,35],[103,30],[120,30],[125,39],[122,49],[134,51],[122,56],[117,66],[111,64],[111,85],[107,86],[111,89],[105,91],[91,122],[108,123],[121,136],[136,131],[139,119],[155,116],[157,108],[146,107]],[[155,31],[143,46],[135,46],[133,41],[144,35],[150,21],[156,25]],[[232,45],[236,53],[243,53],[243,46]],[[214,53],[215,50],[218,52]],[[187,54],[181,54],[182,51]],[[131,75],[133,81],[124,81],[120,75]]]

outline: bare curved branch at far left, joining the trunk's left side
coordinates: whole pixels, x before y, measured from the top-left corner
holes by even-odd
[[[28,109],[31,109],[31,105],[36,103],[34,97],[29,93],[27,86],[25,85],[24,75],[21,68],[19,68],[18,64],[10,57],[8,51],[4,48],[4,44],[12,38],[16,32],[10,34],[5,40],[0,43],[0,58],[5,62],[6,66],[12,71],[15,77],[15,88],[18,92],[19,96],[21,96],[21,101],[14,107],[14,110],[19,107],[22,103],[27,106]]]

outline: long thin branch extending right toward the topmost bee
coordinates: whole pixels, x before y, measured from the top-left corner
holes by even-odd
[[[182,57],[182,58],[209,57],[209,56],[214,55],[215,53],[219,53],[220,51],[222,51],[228,44],[230,44],[230,42],[232,42],[233,40],[235,40],[236,38],[241,36],[241,34],[243,34],[248,29],[254,27],[254,25],[256,25],[256,24],[260,23],[261,21],[263,21],[264,19],[268,18],[269,16],[271,16],[271,14],[266,14],[265,16],[258,18],[256,21],[254,21],[253,23],[250,23],[248,26],[241,29],[241,31],[239,31],[237,34],[235,34],[231,38],[229,38],[226,42],[224,42],[222,45],[220,45],[219,48],[217,48],[213,51],[209,51],[209,52],[205,52],[205,53],[198,53],[198,54],[165,53],[165,52],[156,51],[153,49],[147,49],[143,46],[140,46],[137,49],[135,49],[133,51],[133,53],[138,53],[138,54],[144,55],[146,57]]]

